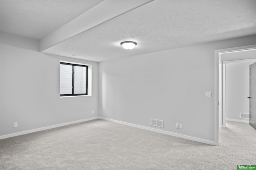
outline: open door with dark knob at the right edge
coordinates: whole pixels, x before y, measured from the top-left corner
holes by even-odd
[[[249,112],[250,120],[249,124],[256,129],[256,63],[250,65],[250,100]]]

